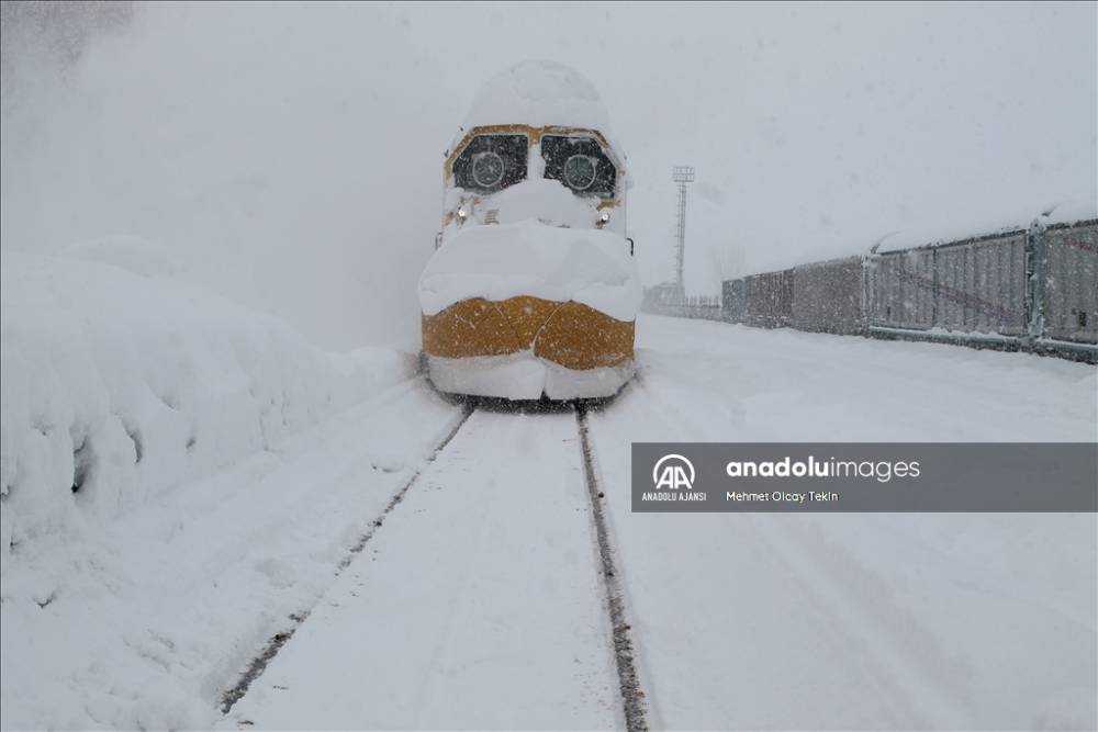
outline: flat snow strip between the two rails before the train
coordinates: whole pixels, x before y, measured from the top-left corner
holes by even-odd
[[[580,461],[571,414],[473,414],[224,728],[619,727]]]

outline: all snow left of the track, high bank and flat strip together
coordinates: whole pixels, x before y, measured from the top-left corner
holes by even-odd
[[[456,410],[142,243],[69,254],[0,267],[0,727],[210,728]]]

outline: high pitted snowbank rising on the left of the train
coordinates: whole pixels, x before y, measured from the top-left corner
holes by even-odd
[[[3,252],[0,567],[380,385],[411,357],[320,351],[284,323],[92,261]]]

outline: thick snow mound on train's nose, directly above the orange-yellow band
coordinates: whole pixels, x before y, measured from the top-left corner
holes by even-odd
[[[459,230],[419,278],[419,305],[427,315],[470,297],[516,295],[572,300],[632,320],[642,292],[629,243],[620,235],[531,219]]]

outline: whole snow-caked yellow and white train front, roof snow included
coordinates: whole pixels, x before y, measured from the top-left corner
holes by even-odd
[[[634,373],[641,289],[626,171],[594,87],[546,61],[492,79],[444,178],[419,279],[435,386],[516,401],[616,394]]]

